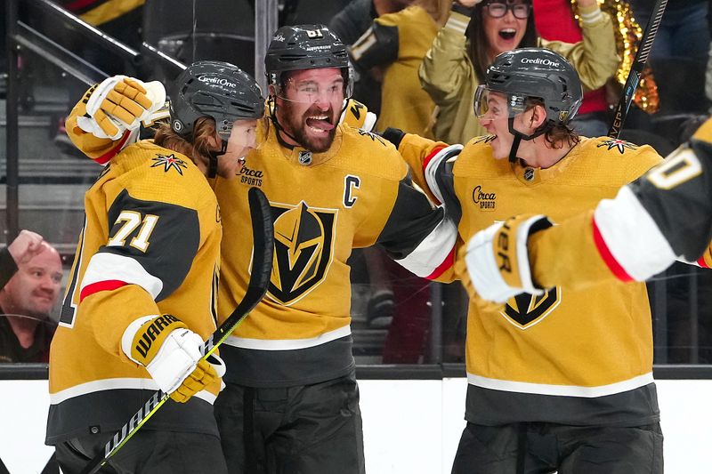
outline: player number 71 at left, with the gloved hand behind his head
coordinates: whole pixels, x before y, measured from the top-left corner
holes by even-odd
[[[165,100],[162,85],[144,85],[111,77],[68,123],[80,149],[117,154],[86,192],[50,354],[46,442],[65,473],[83,470],[158,389],[173,401],[109,459],[111,471],[227,471],[213,416],[224,365],[201,359],[215,330],[223,234],[206,176],[239,173],[263,98],[239,68],[195,63],[174,83],[171,125],[154,141],[120,141],[118,152],[114,138]]]

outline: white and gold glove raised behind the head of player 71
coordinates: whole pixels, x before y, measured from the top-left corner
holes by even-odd
[[[166,88],[158,81],[143,83],[127,76],[109,77],[91,91],[86,115],[77,117],[77,126],[97,138],[116,141],[126,130],[135,130],[142,121],[149,121],[165,103]]]

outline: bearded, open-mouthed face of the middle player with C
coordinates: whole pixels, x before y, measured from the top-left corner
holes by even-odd
[[[334,141],[344,101],[344,77],[338,68],[293,72],[277,98],[279,123],[305,149],[322,152]]]

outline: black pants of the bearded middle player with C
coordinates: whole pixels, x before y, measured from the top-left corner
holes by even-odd
[[[279,389],[228,383],[215,418],[231,474],[363,474],[353,374]]]

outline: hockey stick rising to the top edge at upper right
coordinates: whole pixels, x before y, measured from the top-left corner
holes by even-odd
[[[652,6],[651,18],[648,20],[648,25],[643,32],[643,38],[638,45],[638,51],[635,52],[635,59],[630,66],[626,85],[623,86],[623,94],[620,96],[620,100],[616,106],[616,113],[613,116],[611,130],[608,131],[608,136],[611,138],[618,138],[623,128],[623,122],[628,115],[628,108],[630,108],[630,103],[633,101],[635,89],[638,88],[638,83],[640,83],[640,76],[643,74],[643,68],[648,61],[648,56],[652,49],[652,42],[655,41],[655,34],[658,32],[660,20],[662,20],[662,14],[665,12],[666,6],[667,0],[657,0]]]

